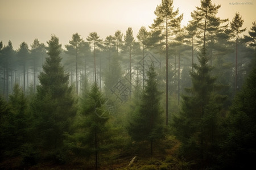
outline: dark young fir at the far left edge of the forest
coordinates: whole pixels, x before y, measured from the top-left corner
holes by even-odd
[[[18,84],[9,97],[9,105],[1,101],[1,150],[6,156],[17,156],[28,137],[27,99]],[[2,152],[2,151],[1,151]]]

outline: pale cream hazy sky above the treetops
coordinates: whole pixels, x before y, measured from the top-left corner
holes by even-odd
[[[256,20],[256,0],[212,0],[221,5],[218,16],[231,21],[240,12],[247,30]],[[246,5],[241,5],[246,2]],[[249,4],[250,2],[250,4]],[[155,8],[161,0],[0,0],[0,41],[13,42],[18,49],[21,42],[28,46],[34,39],[48,41],[52,34],[59,37],[64,48],[73,33],[86,40],[90,32],[101,39],[114,35],[118,29],[125,35],[133,28],[134,37],[139,28],[153,23]],[[191,12],[200,6],[200,0],[174,0],[174,8],[184,13],[183,25],[191,20]],[[246,31],[247,32],[247,31]]]

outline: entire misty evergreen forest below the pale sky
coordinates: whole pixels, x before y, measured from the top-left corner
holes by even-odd
[[[200,2],[185,27],[162,0],[138,35],[1,41],[0,168],[254,167],[256,22]]]

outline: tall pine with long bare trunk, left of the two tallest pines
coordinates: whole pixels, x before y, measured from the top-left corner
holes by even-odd
[[[161,30],[163,41],[165,41],[165,52],[166,52],[166,125],[168,125],[168,45],[170,39],[180,29],[180,22],[183,19],[183,14],[179,14],[179,9],[174,11],[172,0],[162,0],[162,3],[156,7],[155,15],[156,19],[152,24],[151,29],[155,31]]]

